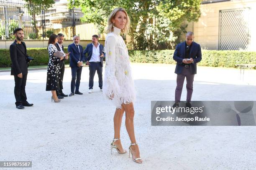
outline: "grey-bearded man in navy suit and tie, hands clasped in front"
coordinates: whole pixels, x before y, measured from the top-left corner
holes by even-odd
[[[80,37],[75,35],[73,37],[73,43],[68,46],[68,51],[70,52],[70,63],[69,67],[71,67],[71,93],[69,96],[74,94],[82,95],[82,92],[79,92],[79,85],[81,80],[81,73],[84,61],[84,53],[83,47],[79,45]],[[76,81],[77,79],[77,81]]]

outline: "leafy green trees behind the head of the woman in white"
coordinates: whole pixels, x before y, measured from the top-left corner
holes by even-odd
[[[69,8],[81,7],[82,22],[94,23],[102,33],[115,7],[123,7],[131,20],[131,43],[134,50],[174,48],[172,32],[184,20],[200,17],[201,0],[69,0]],[[169,10],[173,10],[170,12]],[[177,36],[177,35],[176,35]]]

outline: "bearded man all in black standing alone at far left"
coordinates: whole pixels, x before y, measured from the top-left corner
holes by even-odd
[[[28,63],[31,57],[27,55],[27,48],[25,42],[22,42],[24,38],[24,32],[22,28],[16,28],[13,31],[16,39],[10,45],[10,58],[12,60],[11,75],[14,75],[15,87],[15,105],[17,109],[24,109],[24,106],[33,106],[28,103],[25,86],[28,75]]]

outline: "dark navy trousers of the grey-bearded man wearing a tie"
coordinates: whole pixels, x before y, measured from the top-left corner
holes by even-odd
[[[72,74],[71,92],[74,92],[75,87],[76,87],[76,92],[79,91],[82,68],[83,67],[71,67],[71,74]]]

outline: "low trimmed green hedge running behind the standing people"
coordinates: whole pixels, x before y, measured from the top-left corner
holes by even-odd
[[[28,55],[34,57],[30,65],[47,65],[49,55],[46,48],[28,48]],[[67,47],[64,48],[67,52]],[[172,59],[174,50],[129,50],[131,62],[176,64]],[[69,60],[66,61],[69,63]],[[235,67],[236,64],[256,64],[256,52],[202,50],[201,66]],[[10,67],[10,52],[0,49],[0,67]]]

